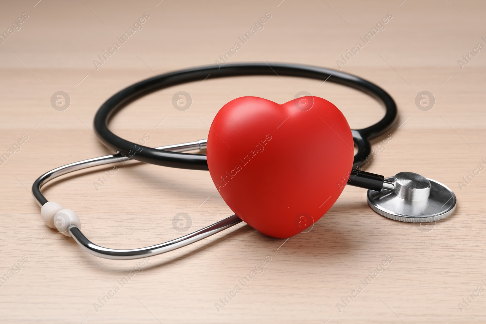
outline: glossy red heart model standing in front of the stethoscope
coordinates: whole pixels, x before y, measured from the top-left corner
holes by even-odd
[[[208,167],[226,204],[261,233],[285,239],[309,228],[337,200],[353,164],[341,111],[319,97],[278,104],[232,100],[208,135]]]

